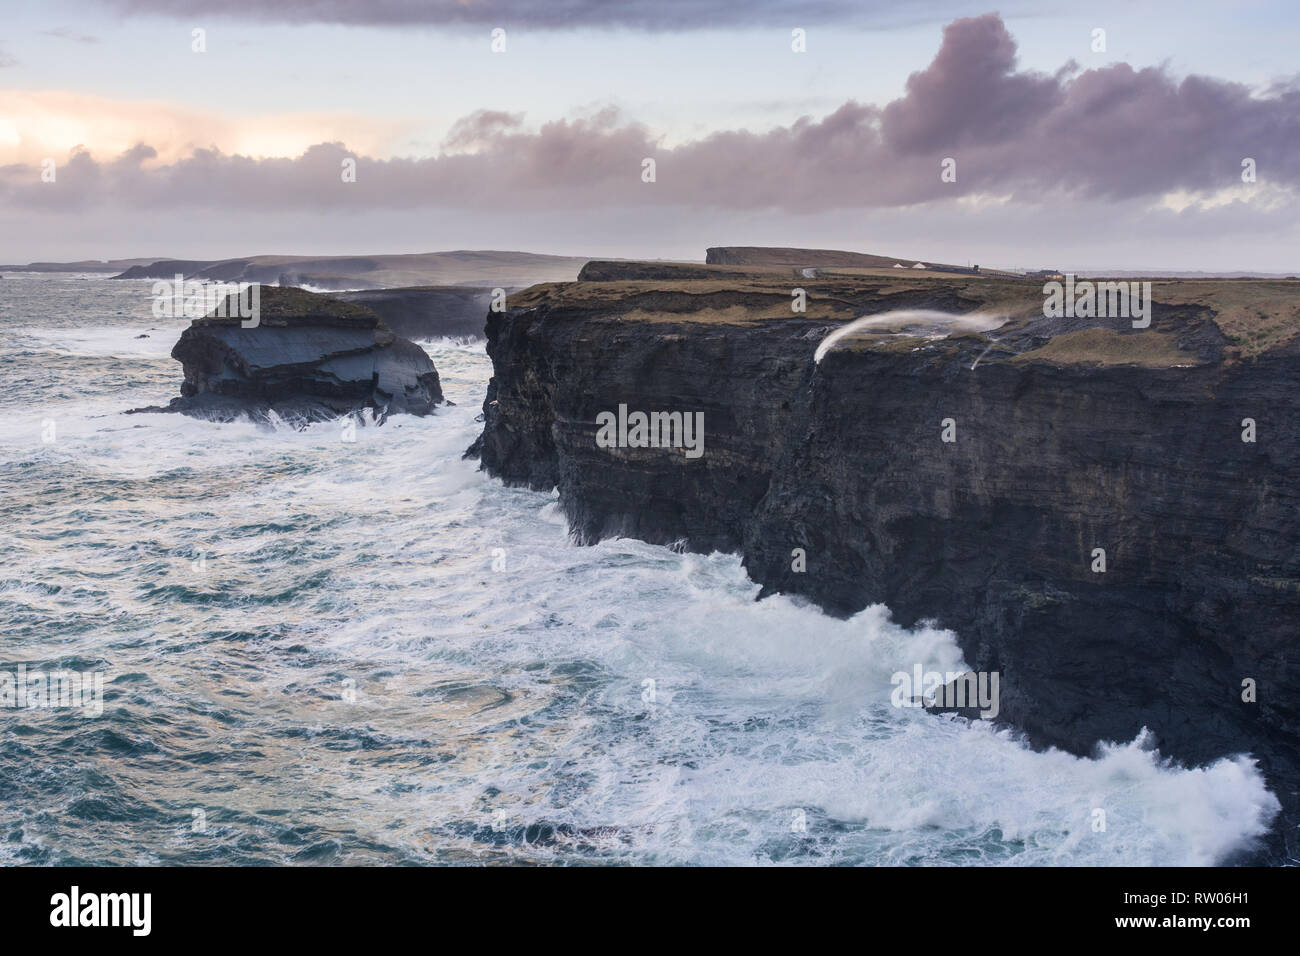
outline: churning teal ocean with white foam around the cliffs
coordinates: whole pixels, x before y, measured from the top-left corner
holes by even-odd
[[[150,281],[0,280],[0,864],[1205,865],[1277,810],[1247,756],[1092,758],[890,705],[950,632],[729,554],[571,542],[454,406],[344,441],[124,415],[179,394]],[[1101,812],[1098,817],[1097,812]]]

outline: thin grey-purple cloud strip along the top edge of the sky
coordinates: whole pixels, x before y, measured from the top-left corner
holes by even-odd
[[[103,0],[127,14],[230,16],[264,22],[352,26],[628,27],[684,31],[711,27],[897,22],[885,0]],[[952,0],[913,0],[909,21],[948,18]]]

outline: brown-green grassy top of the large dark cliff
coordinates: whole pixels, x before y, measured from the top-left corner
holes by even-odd
[[[1005,320],[987,360],[1174,367],[1238,362],[1300,346],[1300,281],[1149,281],[1152,321],[1048,319],[1040,278],[832,271],[812,277],[774,265],[598,263],[588,281],[547,282],[510,298],[512,308],[545,308],[628,323],[753,326],[772,321],[842,324],[896,310],[980,312]],[[1092,281],[1105,281],[1102,277]],[[1080,278],[1080,281],[1083,281]],[[805,310],[794,311],[802,289]],[[907,333],[864,330],[844,347],[894,350]]]

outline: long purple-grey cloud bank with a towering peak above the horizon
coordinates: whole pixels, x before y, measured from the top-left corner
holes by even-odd
[[[950,200],[963,195],[1043,202],[1128,200],[1242,182],[1300,185],[1300,91],[1266,95],[1208,77],[1176,79],[1119,64],[1054,75],[1019,72],[997,14],[944,30],[933,61],[883,108],[845,103],[762,133],[731,130],[664,147],[645,126],[606,109],[525,129],[523,117],[462,118],[434,157],[356,157],[321,143],[302,156],[251,159],[199,150],[150,168],[148,146],[110,161],[86,152],[61,164],[57,186],[39,169],[0,169],[6,204],[78,208],[207,206],[260,209],[581,209],[689,206],[819,212]],[[654,159],[655,182],[642,181]],[[941,163],[956,160],[957,181]]]

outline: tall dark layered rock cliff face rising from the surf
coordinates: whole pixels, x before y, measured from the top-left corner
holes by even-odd
[[[1023,285],[810,286],[824,308],[800,317],[788,289],[650,285],[489,316],[486,471],[558,488],[584,541],[737,551],[764,593],[937,620],[1036,745],[1147,727],[1188,763],[1252,753],[1283,804],[1253,860],[1297,856],[1297,339],[1244,355],[1197,290],[1139,332],[1034,317]],[[875,332],[814,362],[841,316],[991,303],[1015,317],[989,336]],[[598,446],[619,405],[703,412],[703,454]]]

